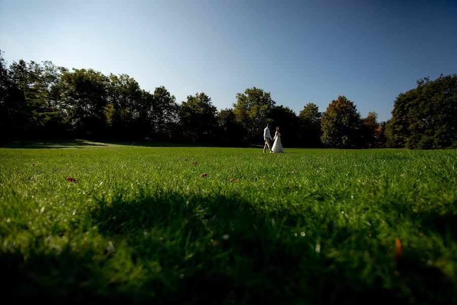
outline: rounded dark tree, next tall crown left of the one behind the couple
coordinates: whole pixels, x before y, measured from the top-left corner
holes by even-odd
[[[206,94],[187,96],[187,101],[179,107],[179,120],[182,135],[191,142],[210,142],[215,137],[217,108]]]

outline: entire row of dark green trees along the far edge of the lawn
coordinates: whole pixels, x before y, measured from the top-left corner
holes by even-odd
[[[3,140],[81,137],[243,145],[262,144],[263,129],[270,122],[280,127],[289,147],[452,147],[456,116],[449,115],[455,114],[455,78],[441,76],[435,81],[441,85],[421,80],[418,88],[399,95],[392,119],[378,123],[375,112],[362,118],[344,96],[324,112],[308,103],[297,115],[277,105],[270,92],[252,87],[236,94],[232,108],[218,111],[203,92],[178,103],[164,86],[151,93],[126,74],[69,70],[49,61],[22,59],[7,66],[0,52],[0,128]],[[443,94],[435,94],[436,89]],[[409,113],[413,106],[419,110]],[[415,121],[428,111],[434,117]],[[446,126],[436,131],[443,115]]]

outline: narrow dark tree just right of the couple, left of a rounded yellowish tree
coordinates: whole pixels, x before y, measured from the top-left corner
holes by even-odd
[[[319,147],[322,145],[320,140],[320,119],[322,113],[319,112],[319,107],[314,103],[308,103],[300,111],[300,144],[307,147]]]

